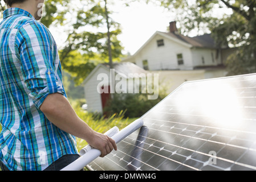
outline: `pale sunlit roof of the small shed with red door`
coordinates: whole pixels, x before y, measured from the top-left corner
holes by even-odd
[[[91,73],[86,77],[86,79],[83,81],[83,84],[86,84],[88,80],[94,75],[94,73],[99,69],[103,68],[106,71],[110,71],[109,65],[107,63],[105,64],[98,64],[94,70],[91,71]],[[138,67],[136,64],[129,63],[129,62],[123,62],[123,63],[113,63],[113,69],[116,74],[120,74],[120,76],[124,78],[140,78],[140,77],[146,77],[147,71],[144,69]]]

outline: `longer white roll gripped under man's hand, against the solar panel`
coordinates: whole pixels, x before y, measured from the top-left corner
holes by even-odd
[[[116,143],[119,143],[124,138],[128,137],[130,134],[132,134],[134,131],[139,129],[141,126],[143,126],[143,120],[142,119],[136,119],[133,121],[130,125],[125,127],[123,130],[119,131],[119,133],[113,135],[112,139],[115,140]],[[64,167],[60,171],[79,171],[84,168],[87,164],[91,163],[92,160],[96,159],[101,155],[100,150],[97,150],[96,148],[92,148],[86,154],[80,156],[79,159],[75,160],[68,166]]]

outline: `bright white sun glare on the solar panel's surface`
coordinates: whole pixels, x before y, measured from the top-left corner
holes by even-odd
[[[239,95],[229,85],[212,81],[204,84],[204,88],[186,92],[189,94],[181,94],[174,102],[184,114],[192,109],[197,110],[198,115],[211,118],[220,127],[241,125]]]

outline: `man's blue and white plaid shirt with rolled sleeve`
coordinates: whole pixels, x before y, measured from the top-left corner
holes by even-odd
[[[18,8],[3,12],[0,31],[0,160],[10,170],[43,170],[78,154],[75,137],[39,110],[48,94],[66,96],[51,33]]]

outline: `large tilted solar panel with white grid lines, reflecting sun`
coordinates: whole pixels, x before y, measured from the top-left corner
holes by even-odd
[[[255,170],[256,74],[185,82],[92,170]]]

